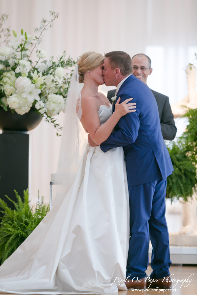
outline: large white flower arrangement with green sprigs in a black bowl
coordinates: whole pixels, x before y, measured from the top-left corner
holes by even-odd
[[[3,27],[8,15],[1,15],[0,38],[4,35],[4,41],[0,43],[3,44],[0,48],[0,108],[11,109],[12,113],[15,111],[20,115],[33,108],[58,129],[53,116],[64,110],[72,67],[76,62],[70,57],[66,60],[65,51],[57,61],[53,57],[45,59],[47,53],[38,48],[43,31],[52,27],[58,18],[57,13],[50,14],[52,19],[42,19],[40,27],[34,30],[35,37],[23,30],[20,34],[13,30],[12,36],[9,28]],[[38,58],[35,62],[30,59],[33,50]]]

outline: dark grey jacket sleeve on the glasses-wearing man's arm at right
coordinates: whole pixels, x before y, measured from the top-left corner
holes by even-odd
[[[175,138],[177,128],[175,126],[174,116],[172,114],[168,97],[166,97],[162,111],[161,130],[164,139],[173,140]]]

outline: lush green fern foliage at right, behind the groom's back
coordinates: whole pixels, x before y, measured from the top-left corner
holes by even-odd
[[[197,185],[197,109],[188,109],[183,117],[189,122],[185,132],[167,147],[174,171],[167,178],[166,196],[187,201]]]

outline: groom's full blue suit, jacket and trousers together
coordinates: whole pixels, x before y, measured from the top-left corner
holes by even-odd
[[[165,221],[167,176],[173,171],[162,137],[159,112],[152,91],[131,75],[121,85],[117,98],[133,97],[136,112],[122,117],[102,151],[123,146],[130,201],[130,244],[127,276],[143,278],[148,266],[149,237],[153,252],[151,277],[169,275],[169,236]],[[120,196],[121,197],[121,196]]]

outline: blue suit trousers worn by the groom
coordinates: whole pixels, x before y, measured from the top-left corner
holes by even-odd
[[[165,219],[167,178],[129,186],[130,241],[127,276],[144,278],[148,267],[149,238],[152,243],[152,278],[168,276],[171,265]],[[136,279],[136,278],[135,278]]]

